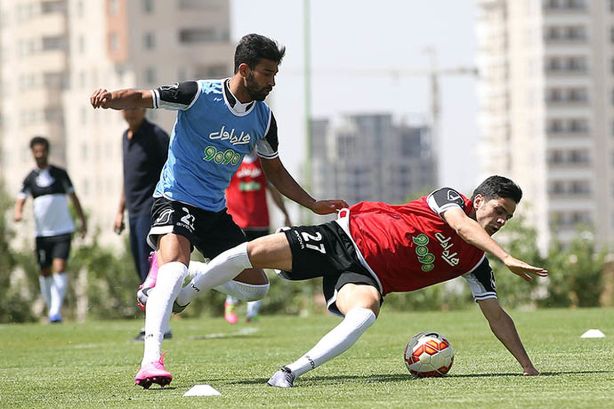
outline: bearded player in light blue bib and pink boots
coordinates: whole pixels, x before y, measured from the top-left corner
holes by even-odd
[[[193,247],[214,258],[246,242],[226,212],[224,199],[244,155],[255,148],[268,180],[314,213],[325,215],[348,206],[344,201],[317,201],[309,196],[279,159],[277,123],[264,100],[273,90],[285,52],[274,40],[248,34],[236,47],[231,78],[178,82],[154,90],[99,89],[90,97],[95,109],[177,111],[168,160],[153,193],[153,224],[147,241],[157,252],[139,289],[139,299],[147,300],[147,307],[145,348],[135,383],[144,388],[173,379],[160,354],[163,328],[187,276]],[[262,269],[246,269],[219,289],[243,300],[260,299],[268,290],[268,280]]]

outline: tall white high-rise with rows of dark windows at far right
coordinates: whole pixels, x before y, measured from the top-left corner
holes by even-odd
[[[520,212],[568,242],[614,239],[614,1],[476,0],[483,175],[525,193]]]

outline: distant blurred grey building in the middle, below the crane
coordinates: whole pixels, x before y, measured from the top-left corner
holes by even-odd
[[[313,120],[311,174],[315,197],[405,203],[437,183],[429,128],[388,114]]]

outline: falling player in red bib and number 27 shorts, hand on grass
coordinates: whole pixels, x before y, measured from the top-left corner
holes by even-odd
[[[274,373],[268,384],[290,388],[295,378],[348,350],[379,313],[383,297],[462,276],[492,332],[523,367],[539,375],[516,327],[500,307],[492,269],[484,252],[500,259],[524,280],[548,272],[503,250],[491,235],[511,218],[522,191],[492,176],[471,199],[452,188],[437,189],[405,205],[361,202],[340,218],[319,226],[291,227],[227,250],[182,289],[181,311],[198,291],[235,277],[244,268],[274,268],[288,280],[323,277],[328,310],[344,319],[306,354]]]

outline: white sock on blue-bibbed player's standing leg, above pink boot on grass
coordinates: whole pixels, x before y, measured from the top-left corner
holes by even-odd
[[[187,273],[188,268],[179,261],[168,262],[158,270],[158,279],[155,287],[149,291],[145,309],[145,348],[141,365],[160,359],[173,300],[179,294]]]

